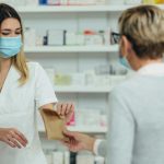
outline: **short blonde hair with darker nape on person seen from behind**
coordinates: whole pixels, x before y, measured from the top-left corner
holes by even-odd
[[[154,5],[126,10],[119,19],[119,31],[131,43],[140,59],[162,58],[164,52],[164,11]]]

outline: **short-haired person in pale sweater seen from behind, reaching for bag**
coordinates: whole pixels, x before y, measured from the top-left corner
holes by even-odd
[[[120,61],[137,74],[110,93],[107,141],[65,131],[65,143],[107,156],[107,164],[164,164],[164,11],[128,9],[119,32]]]

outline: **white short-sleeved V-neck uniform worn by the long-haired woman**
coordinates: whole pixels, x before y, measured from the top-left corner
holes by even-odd
[[[38,107],[57,102],[44,69],[27,62],[30,80],[20,86],[20,73],[11,66],[0,93],[0,128],[16,128],[28,140],[26,148],[13,149],[0,142],[0,164],[46,164],[36,126]]]

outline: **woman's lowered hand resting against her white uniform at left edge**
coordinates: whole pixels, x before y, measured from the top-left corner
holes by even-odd
[[[19,149],[27,144],[24,134],[14,128],[0,128],[0,141]]]

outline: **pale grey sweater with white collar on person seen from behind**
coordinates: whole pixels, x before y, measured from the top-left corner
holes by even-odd
[[[112,91],[107,164],[164,164],[164,65],[149,65]]]

